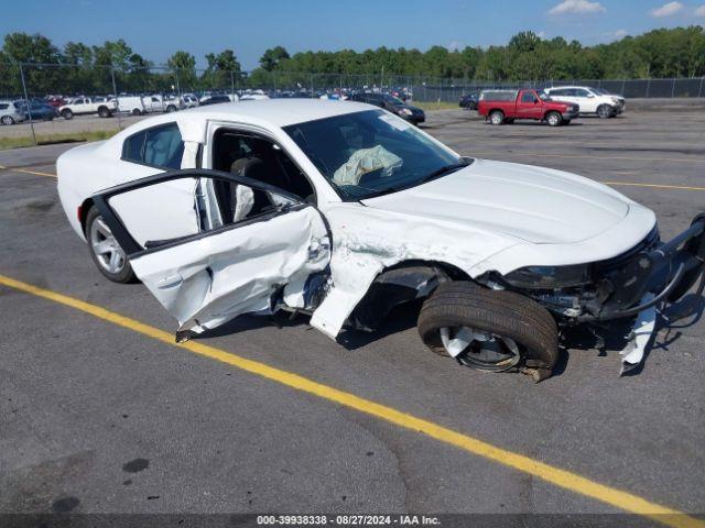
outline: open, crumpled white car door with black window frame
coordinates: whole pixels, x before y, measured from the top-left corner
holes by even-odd
[[[154,222],[165,222],[159,186],[175,180],[193,184],[193,209],[183,215],[193,218],[195,210],[198,226],[183,235],[165,227],[169,239],[145,240],[144,233],[159,232]],[[93,199],[134,274],[178,319],[177,340],[241,314],[271,314],[280,304],[308,308],[318,297],[312,289],[325,283],[326,222],[314,206],[268,184],[186,169],[129,182]]]

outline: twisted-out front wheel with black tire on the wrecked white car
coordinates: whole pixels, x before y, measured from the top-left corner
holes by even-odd
[[[550,371],[558,358],[558,332],[555,320],[544,307],[513,292],[492,290],[467,280],[441,284],[426,299],[419,316],[419,334],[429,349],[449,355],[444,345],[448,331],[471,329],[484,336],[495,336],[494,348],[500,352],[478,350],[473,341],[456,359],[464,365],[484,371],[501,372],[520,362],[531,369]],[[451,330],[444,330],[451,329]],[[506,343],[516,343],[519,356]],[[482,343],[491,343],[484,341]],[[482,344],[481,346],[487,346]]]

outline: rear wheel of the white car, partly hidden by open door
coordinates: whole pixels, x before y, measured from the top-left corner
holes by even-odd
[[[120,248],[95,206],[86,215],[86,240],[90,257],[100,273],[113,283],[127,284],[137,280],[124,250]]]

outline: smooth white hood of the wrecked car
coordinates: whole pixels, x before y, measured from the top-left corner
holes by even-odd
[[[629,211],[627,198],[587,178],[485,160],[362,204],[538,244],[590,239],[617,224]]]

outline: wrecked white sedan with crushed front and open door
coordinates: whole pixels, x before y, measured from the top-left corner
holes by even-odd
[[[463,157],[355,102],[160,116],[68,151],[57,169],[100,272],[142,280],[178,341],[278,310],[336,338],[425,299],[431,350],[540,380],[562,329],[616,318],[637,321],[623,362],[638,364],[655,307],[705,267],[705,216],[662,243],[654,213],[611,188]]]

